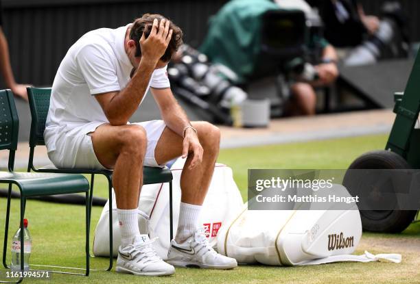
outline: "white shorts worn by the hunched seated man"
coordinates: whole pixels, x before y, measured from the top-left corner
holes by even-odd
[[[106,169],[97,160],[95,151],[93,151],[93,144],[91,135],[85,129],[96,129],[102,122],[91,122],[80,127],[80,129],[72,129],[56,140],[56,149],[48,152],[48,157],[57,168],[80,168],[80,169]],[[141,125],[148,138],[148,146],[145,152],[143,166],[161,167],[154,159],[154,149],[159,138],[165,129],[165,122],[163,120],[150,120],[144,122],[132,123]]]

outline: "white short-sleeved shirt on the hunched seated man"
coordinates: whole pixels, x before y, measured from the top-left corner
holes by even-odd
[[[49,152],[60,135],[86,134],[108,122],[95,94],[122,90],[130,81],[133,66],[124,49],[130,25],[89,31],[67,51],[52,86],[44,132]],[[170,88],[166,68],[154,70],[145,93],[150,86]]]

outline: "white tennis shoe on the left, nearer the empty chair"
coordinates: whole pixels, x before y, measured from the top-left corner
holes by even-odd
[[[146,276],[163,276],[174,274],[175,268],[163,261],[152,248],[148,235],[136,237],[133,244],[118,250],[115,271]]]

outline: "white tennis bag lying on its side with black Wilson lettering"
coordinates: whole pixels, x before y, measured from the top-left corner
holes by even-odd
[[[401,261],[397,254],[351,255],[361,236],[356,205],[345,210],[248,210],[245,205],[220,228],[218,251],[239,263],[270,266]]]

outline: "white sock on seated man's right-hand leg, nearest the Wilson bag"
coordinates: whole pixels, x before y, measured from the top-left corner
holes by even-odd
[[[176,230],[175,242],[180,244],[187,240],[197,229],[198,216],[200,216],[201,205],[180,203],[178,230]]]

